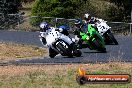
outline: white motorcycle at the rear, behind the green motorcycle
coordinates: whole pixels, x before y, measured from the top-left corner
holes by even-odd
[[[107,21],[104,21],[102,19],[97,20],[96,27],[98,29],[98,32],[104,37],[106,44],[114,43],[115,45],[118,45],[117,40],[110,30],[111,27],[109,27],[106,22]]]

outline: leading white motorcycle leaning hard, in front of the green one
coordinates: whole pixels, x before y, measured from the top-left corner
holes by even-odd
[[[50,27],[46,32],[40,32],[40,41],[49,47],[49,56],[51,58],[54,58],[57,54],[68,57],[80,57],[82,54],[80,50],[74,47],[73,39],[60,33],[54,27]]]

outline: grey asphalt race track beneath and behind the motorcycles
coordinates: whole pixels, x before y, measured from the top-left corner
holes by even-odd
[[[39,32],[0,31],[0,41],[31,44],[43,47],[38,38]],[[61,55],[55,58],[33,57],[31,59],[10,61],[8,64],[63,64],[95,63],[109,61],[132,61],[132,36],[115,35],[119,45],[106,45],[107,53],[100,53],[88,48],[81,49],[81,57],[68,58]]]

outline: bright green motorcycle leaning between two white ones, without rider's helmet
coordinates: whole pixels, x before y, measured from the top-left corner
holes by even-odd
[[[89,49],[106,52],[104,39],[97,32],[96,28],[91,24],[88,24],[86,31],[87,32],[79,31],[79,36],[87,43]]]

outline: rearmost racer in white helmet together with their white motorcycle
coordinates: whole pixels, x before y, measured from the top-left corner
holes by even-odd
[[[114,38],[110,30],[111,27],[106,24],[107,21],[96,17],[91,17],[91,15],[88,13],[84,14],[84,20],[86,24],[92,24],[100,35],[104,37],[106,44],[115,43],[115,45],[118,45],[117,40]]]

